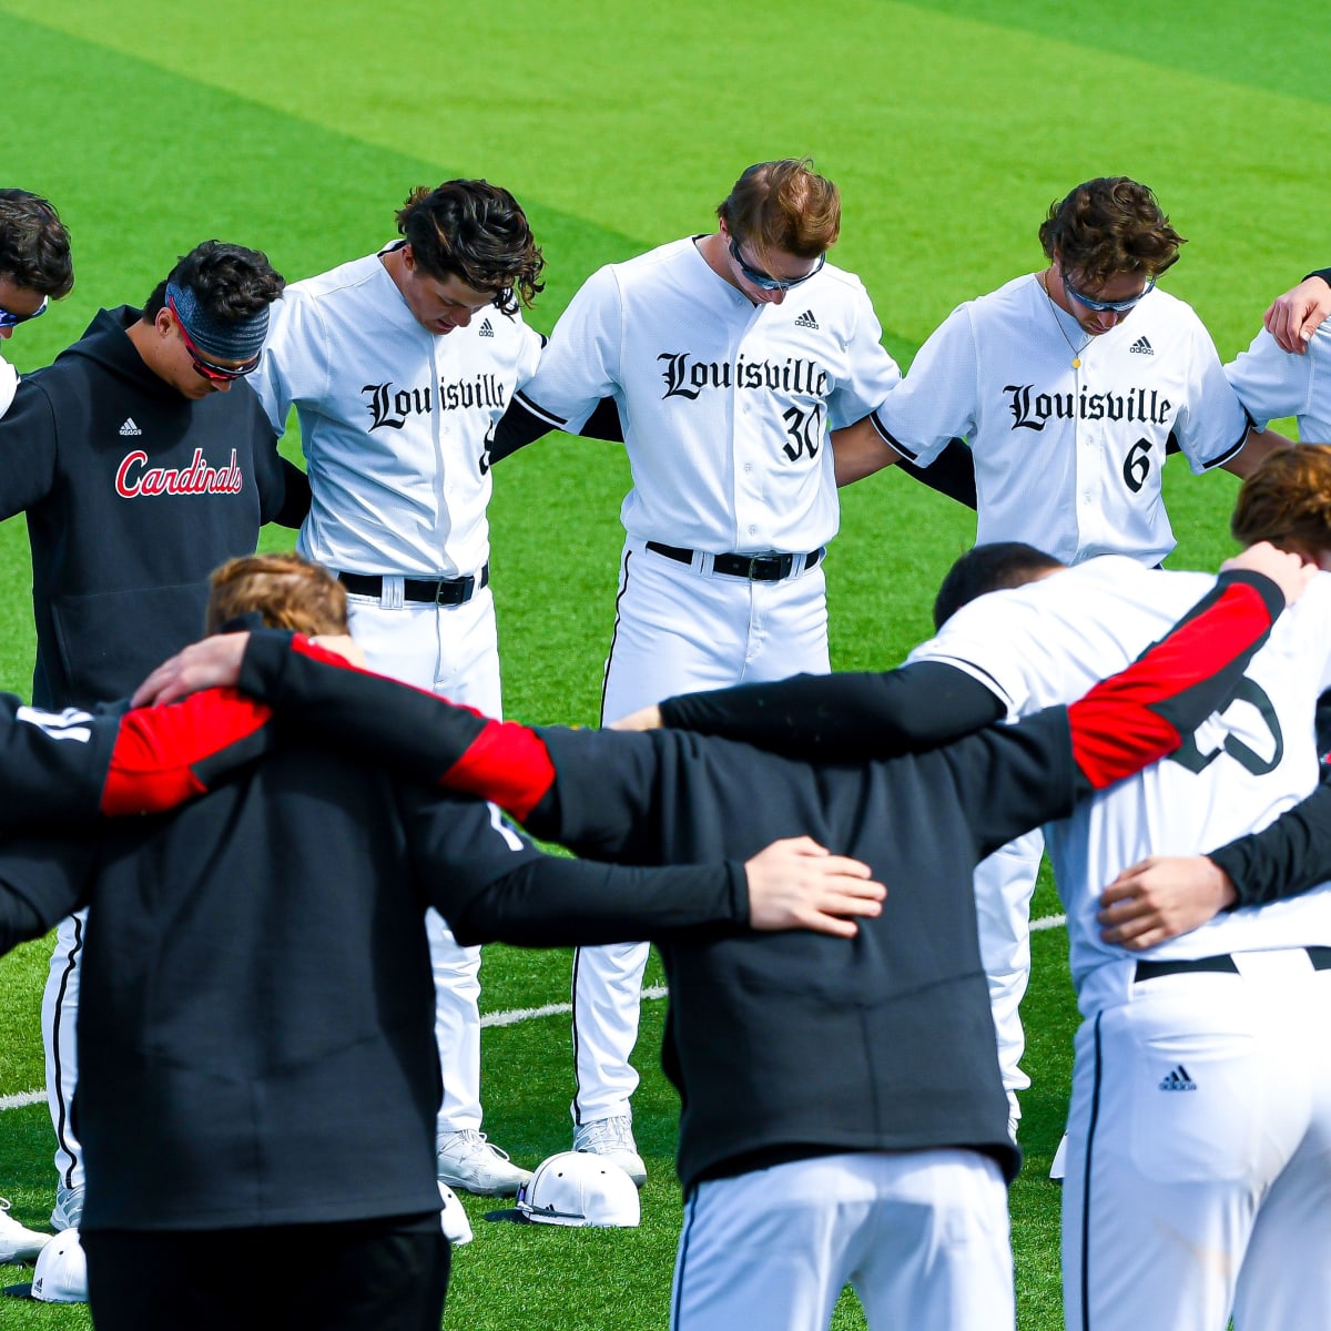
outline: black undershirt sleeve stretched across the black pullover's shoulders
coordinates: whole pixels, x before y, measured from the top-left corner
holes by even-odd
[[[916,662],[894,671],[795,675],[662,703],[663,724],[676,729],[827,763],[918,753],[1002,716],[996,693],[941,662]]]

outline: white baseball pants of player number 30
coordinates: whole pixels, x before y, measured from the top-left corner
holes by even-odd
[[[821,564],[780,582],[712,574],[630,538],[619,566],[615,636],[606,663],[602,721],[673,693],[788,675],[825,675],[827,580]],[[630,1113],[646,942],[574,953],[575,1123]]]

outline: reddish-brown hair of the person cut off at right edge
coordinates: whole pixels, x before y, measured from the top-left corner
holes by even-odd
[[[1239,486],[1230,531],[1244,546],[1270,540],[1310,558],[1331,550],[1331,446],[1268,453]]]

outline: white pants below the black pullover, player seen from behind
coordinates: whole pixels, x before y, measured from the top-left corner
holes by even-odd
[[[1014,1327],[997,1163],[853,1151],[700,1183],[684,1203],[671,1331],[823,1331],[848,1284],[869,1331]]]

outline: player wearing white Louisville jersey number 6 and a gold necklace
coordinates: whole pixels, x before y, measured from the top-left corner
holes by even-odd
[[[1251,429],[1202,321],[1157,287],[1185,240],[1150,189],[1086,181],[1051,205],[1040,242],[1044,270],[960,305],[928,338],[900,389],[843,441],[837,478],[902,457],[929,463],[965,437],[977,544],[1021,540],[1069,564],[1122,554],[1155,566],[1174,548],[1161,494],[1169,451],[1194,473],[1242,476],[1287,441]],[[1030,1083],[1018,1004],[1042,851],[1036,832],[981,868],[981,900],[1008,902],[982,937],[1014,1129],[1016,1093]]]

